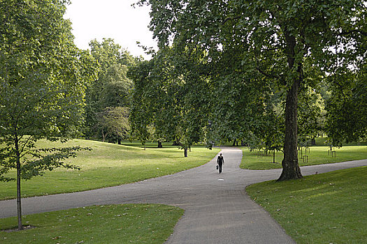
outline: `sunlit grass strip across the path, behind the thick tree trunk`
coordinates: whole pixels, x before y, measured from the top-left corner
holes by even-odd
[[[282,168],[283,153],[275,152],[275,163],[273,163],[273,152],[268,155],[257,157],[256,151],[250,151],[247,147],[242,147],[243,158],[240,164],[241,169],[280,169]],[[312,146],[310,152],[307,152],[308,162],[301,158],[298,152],[298,164],[305,165],[322,165],[332,162],[345,162],[350,160],[367,159],[367,146],[343,146],[341,148],[333,148],[336,151],[336,157],[328,155],[329,146]],[[303,149],[302,155],[305,155]],[[335,154],[334,154],[335,155]]]

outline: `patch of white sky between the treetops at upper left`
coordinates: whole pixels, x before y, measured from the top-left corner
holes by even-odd
[[[71,0],[67,6],[65,19],[70,19],[75,36],[75,45],[88,49],[88,43],[96,39],[113,38],[115,43],[127,49],[134,56],[144,56],[136,41],[147,47],[157,49],[148,28],[150,8],[147,6],[133,8],[132,3],[138,0]]]

